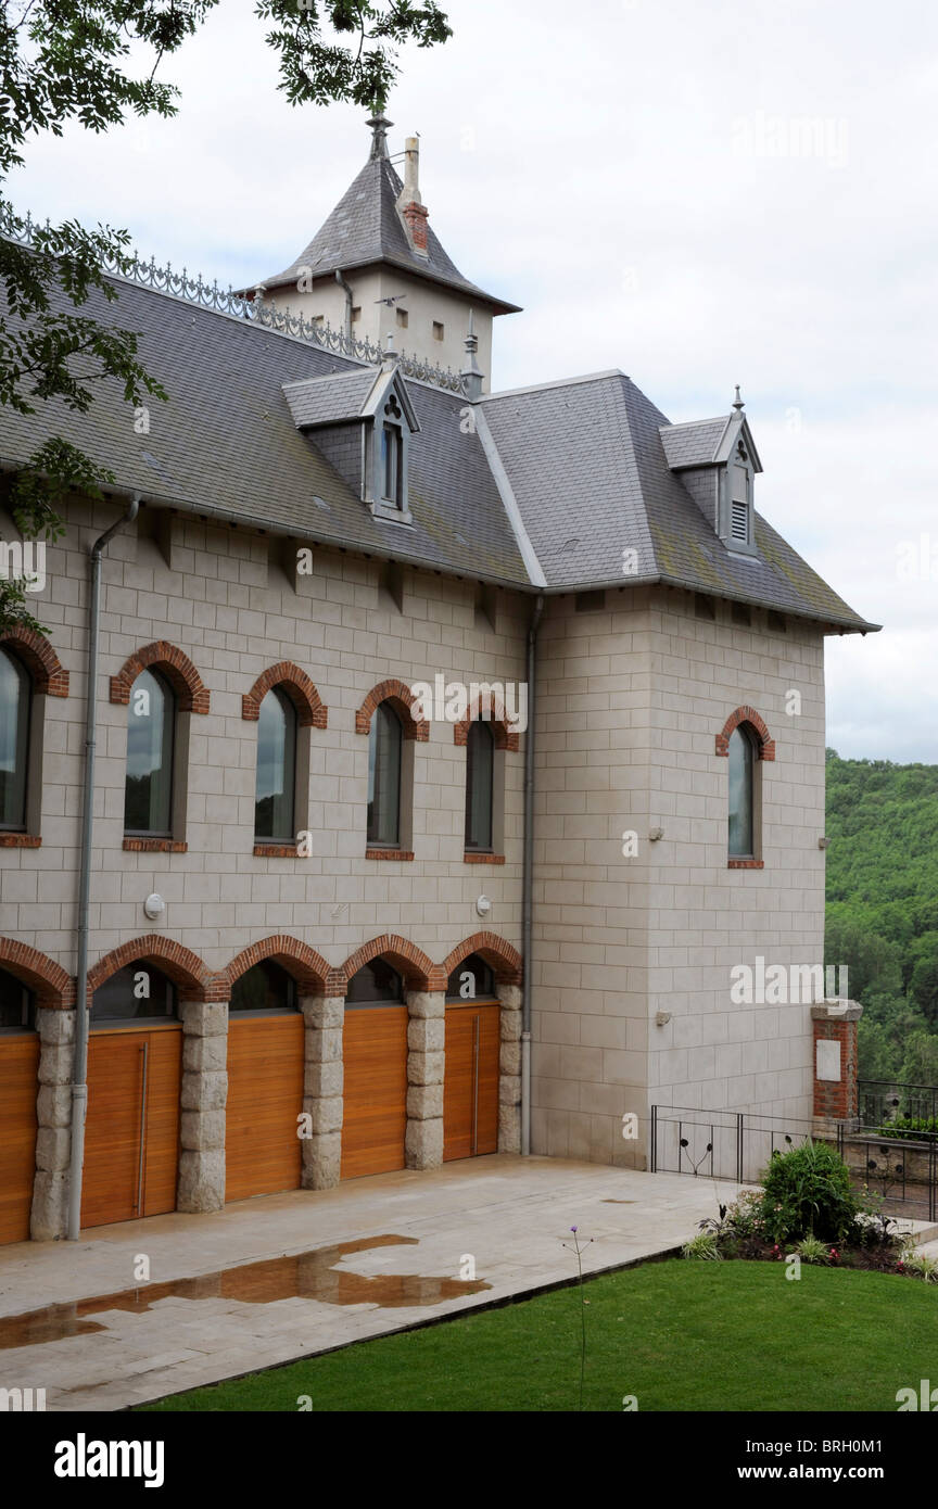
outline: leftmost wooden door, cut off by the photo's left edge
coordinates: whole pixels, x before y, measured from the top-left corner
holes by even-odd
[[[0,1035],[0,1243],[29,1239],[36,1171],[39,1035]]]

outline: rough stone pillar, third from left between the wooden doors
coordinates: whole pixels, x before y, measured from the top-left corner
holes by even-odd
[[[342,1025],[345,1000],[338,996],[302,996],[306,1022],[303,1111],[311,1135],[303,1138],[303,1189],[333,1189],[342,1165]]]

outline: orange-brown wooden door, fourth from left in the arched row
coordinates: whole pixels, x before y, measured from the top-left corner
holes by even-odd
[[[345,1007],[342,1179],[404,1168],[407,1007]]]

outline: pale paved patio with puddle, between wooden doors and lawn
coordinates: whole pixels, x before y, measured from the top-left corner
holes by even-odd
[[[562,1283],[572,1225],[593,1237],[587,1272],[667,1251],[734,1192],[493,1156],[18,1243],[0,1249],[0,1387],[45,1388],[50,1411],[121,1409]],[[270,1262],[311,1249],[326,1251]]]

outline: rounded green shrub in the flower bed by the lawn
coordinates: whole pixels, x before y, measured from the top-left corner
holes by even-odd
[[[802,1142],[774,1153],[762,1177],[760,1213],[775,1242],[843,1242],[857,1227],[860,1198],[851,1172],[832,1147]]]

